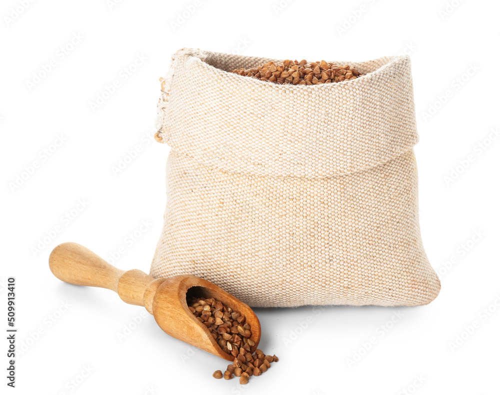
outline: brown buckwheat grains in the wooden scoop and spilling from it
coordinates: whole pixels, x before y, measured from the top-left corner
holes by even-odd
[[[234,356],[232,364],[223,373],[226,380],[239,377],[240,384],[246,384],[251,375],[258,376],[277,362],[276,355],[265,355],[257,348],[251,336],[251,328],[245,323],[245,316],[232,311],[221,301],[213,298],[192,297],[187,300],[189,310],[210,331],[219,347]],[[222,371],[215,370],[215,378],[222,378]]]

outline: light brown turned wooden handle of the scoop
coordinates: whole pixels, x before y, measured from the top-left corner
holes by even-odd
[[[97,286],[118,293],[129,304],[144,306],[144,293],[155,279],[140,270],[120,270],[83,245],[65,242],[48,257],[52,273],[64,282]]]

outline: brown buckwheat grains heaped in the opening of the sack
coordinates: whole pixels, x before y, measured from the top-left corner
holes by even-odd
[[[340,82],[346,79],[356,79],[362,75],[354,67],[337,65],[325,60],[310,62],[304,60],[283,60],[280,63],[270,61],[258,67],[239,68],[232,72],[261,81],[293,85],[318,85],[321,83]]]

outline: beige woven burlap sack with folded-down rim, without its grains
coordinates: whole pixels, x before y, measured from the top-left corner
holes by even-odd
[[[251,306],[419,305],[439,279],[418,224],[410,59],[278,85],[269,60],[182,49],[162,81],[164,226],[151,275],[190,273]]]

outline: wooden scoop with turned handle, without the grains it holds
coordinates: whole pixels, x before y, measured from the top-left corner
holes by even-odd
[[[250,325],[250,339],[255,346],[260,340],[260,323],[250,307],[217,285],[194,275],[154,278],[136,269],[119,270],[88,248],[72,242],[57,245],[50,253],[48,264],[52,273],[62,281],[111,289],[124,302],[144,306],[165,333],[221,358],[234,360],[189,311],[186,297],[220,300],[245,315],[245,322]]]

